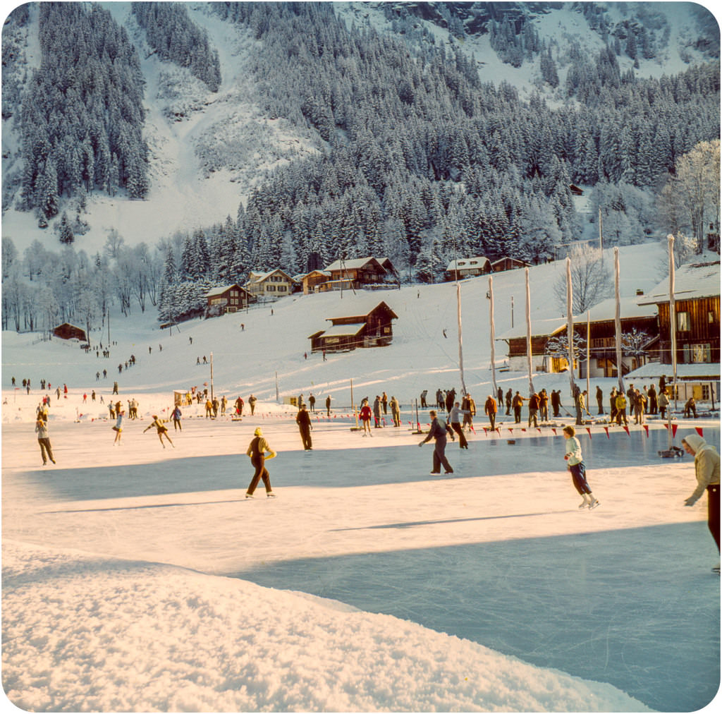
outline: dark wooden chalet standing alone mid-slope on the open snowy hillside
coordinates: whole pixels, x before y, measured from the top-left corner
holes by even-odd
[[[326,318],[331,327],[309,335],[311,352],[344,352],[357,347],[383,347],[391,344],[391,320],[398,315],[383,301],[365,314]]]

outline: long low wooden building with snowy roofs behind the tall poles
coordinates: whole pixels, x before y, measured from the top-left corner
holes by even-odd
[[[586,377],[587,369],[590,377],[617,377],[617,349],[616,327],[614,325],[614,298],[604,300],[589,310],[589,357],[590,364],[586,364],[586,348],[584,360],[574,365],[579,369],[579,377]],[[649,306],[640,306],[637,298],[622,298],[620,301],[620,322],[622,333],[637,330],[648,336],[647,346],[653,344],[658,336],[656,311]],[[574,332],[580,335],[586,343],[587,315],[575,315]],[[560,317],[556,319],[537,320],[531,323],[531,366],[534,371],[561,372],[569,369],[566,356],[553,356],[547,349],[549,340],[556,337],[566,344],[567,321]],[[520,324],[514,330],[497,337],[498,340],[508,344],[509,369],[526,371],[526,323]],[[637,369],[648,361],[646,354],[625,355],[622,348],[622,375]]]

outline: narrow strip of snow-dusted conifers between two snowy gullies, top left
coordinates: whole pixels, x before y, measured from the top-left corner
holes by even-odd
[[[160,59],[188,67],[193,77],[205,82],[209,90],[218,91],[221,83],[218,52],[209,45],[206,32],[193,24],[182,3],[134,2],[132,12]]]

